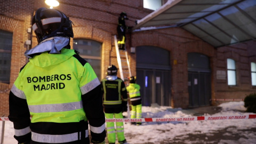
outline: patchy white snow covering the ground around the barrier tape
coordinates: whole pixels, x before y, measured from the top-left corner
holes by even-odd
[[[221,111],[212,116],[248,115],[244,102],[226,102]],[[209,114],[204,114],[209,116]],[[142,107],[142,118],[191,117],[182,109],[171,107]],[[2,123],[1,130],[2,130]],[[127,143],[256,143],[256,119],[225,119],[190,122],[145,122],[140,126],[124,124]],[[0,132],[1,135],[1,132]],[[17,143],[10,121],[5,121],[4,143]]]

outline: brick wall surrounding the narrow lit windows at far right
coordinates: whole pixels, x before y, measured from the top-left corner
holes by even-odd
[[[244,99],[246,95],[256,92],[251,80],[251,62],[256,62],[255,44],[255,41],[251,41],[217,49],[216,69],[227,71],[227,59],[235,60],[237,85],[228,86],[227,78],[217,79],[216,99]]]

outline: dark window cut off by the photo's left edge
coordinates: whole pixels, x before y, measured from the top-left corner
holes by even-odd
[[[12,33],[0,30],[0,83],[10,83]]]

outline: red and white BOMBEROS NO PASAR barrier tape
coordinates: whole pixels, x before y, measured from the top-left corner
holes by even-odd
[[[194,116],[173,118],[107,118],[106,122],[184,122],[184,121],[209,121],[224,119],[256,119],[256,115],[231,115],[231,116]],[[9,121],[8,117],[0,117],[0,121]]]

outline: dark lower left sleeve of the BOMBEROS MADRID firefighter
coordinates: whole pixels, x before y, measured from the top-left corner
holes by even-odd
[[[9,114],[8,117],[14,126],[14,138],[19,143],[30,141],[30,114],[27,101],[14,95],[12,91],[9,94]]]

